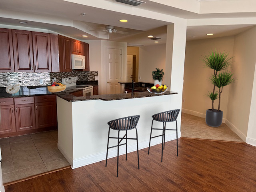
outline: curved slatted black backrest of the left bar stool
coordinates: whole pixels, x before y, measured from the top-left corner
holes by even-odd
[[[131,130],[136,128],[139,118],[139,115],[123,117],[108,122],[108,125],[114,130]]]

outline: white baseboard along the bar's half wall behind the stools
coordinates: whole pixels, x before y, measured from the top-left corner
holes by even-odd
[[[178,138],[180,138],[180,132],[178,132]],[[170,140],[175,140],[176,139],[176,132],[173,134],[169,134],[166,135],[166,142],[170,141]],[[153,138],[151,139],[151,143],[150,146],[154,146],[156,144],[160,144],[162,143],[162,137],[157,137],[157,138]],[[144,149],[144,148],[148,148],[148,144],[149,144],[149,139],[143,142],[138,142],[138,146],[139,146],[139,150],[140,149]],[[106,146],[107,148],[107,146]],[[128,144],[127,146],[127,153],[133,152],[137,150],[137,144]],[[62,151],[61,151],[62,152]],[[119,155],[123,155],[126,153],[126,146],[120,146],[119,147]],[[62,152],[63,154],[63,152]],[[65,154],[63,154],[65,156]],[[109,158],[113,158],[117,156],[117,148],[111,148],[108,150],[108,159]],[[139,154],[140,156],[140,154]],[[66,156],[65,156],[66,157]],[[68,159],[67,159],[68,160]],[[82,167],[85,165],[89,165],[92,163],[96,163],[96,162],[100,162],[102,160],[106,160],[106,152],[101,152],[98,154],[93,154],[93,155],[89,155],[89,156],[85,156],[82,158],[78,158],[78,159],[74,159],[72,162],[72,169],[78,168],[78,167]],[[69,162],[69,160],[68,160]]]

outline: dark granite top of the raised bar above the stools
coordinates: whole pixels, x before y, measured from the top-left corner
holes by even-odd
[[[85,100],[104,100],[104,101],[112,101],[112,100],[121,100],[121,99],[132,99],[132,98],[144,98],[144,97],[154,97],[154,96],[162,96],[162,95],[171,95],[178,94],[177,92],[166,91],[163,94],[154,94],[150,92],[134,92],[134,93],[122,93],[122,94],[108,94],[108,95],[93,95],[93,96],[82,96],[76,97],[71,94],[63,92],[55,93],[60,98],[67,100],[69,102],[74,101],[85,101]]]

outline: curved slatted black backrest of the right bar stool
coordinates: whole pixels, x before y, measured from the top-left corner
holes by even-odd
[[[180,109],[170,110],[152,115],[152,118],[160,122],[173,122],[177,120]]]

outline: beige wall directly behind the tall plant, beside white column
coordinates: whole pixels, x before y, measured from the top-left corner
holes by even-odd
[[[208,77],[213,70],[204,68],[201,58],[216,48],[220,52],[229,52],[233,55],[234,36],[211,38],[205,40],[194,40],[186,43],[185,67],[182,109],[191,110],[203,116],[206,110],[212,108],[212,101],[206,97],[208,91],[213,91],[213,85],[208,82]],[[218,89],[218,88],[217,88]],[[226,118],[228,106],[229,86],[223,88],[221,94],[220,110],[223,111],[223,118]],[[218,99],[214,102],[214,108],[218,108]]]

